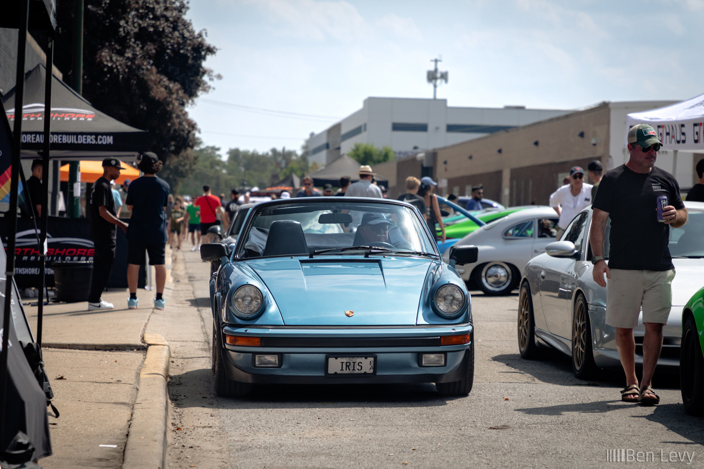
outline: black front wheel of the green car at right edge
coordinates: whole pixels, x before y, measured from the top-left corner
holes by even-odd
[[[690,415],[703,417],[704,355],[692,315],[688,315],[684,321],[679,354],[679,382],[684,410]]]

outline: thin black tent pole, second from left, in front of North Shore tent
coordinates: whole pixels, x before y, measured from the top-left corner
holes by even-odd
[[[44,149],[42,150],[42,217],[39,220],[39,304],[37,310],[37,345],[42,348],[42,326],[44,325],[44,285],[46,284],[46,230],[49,228],[49,148],[51,147],[51,78],[54,75],[54,33],[46,35],[46,74],[44,82]],[[46,295],[49,299],[49,295]]]

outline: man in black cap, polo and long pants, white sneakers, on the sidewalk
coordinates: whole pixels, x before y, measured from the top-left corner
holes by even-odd
[[[103,175],[96,180],[89,199],[90,235],[93,239],[93,277],[88,295],[88,311],[112,309],[115,306],[100,299],[108,284],[115,261],[115,226],[127,232],[127,223],[117,217],[110,181],[120,177],[120,160],[105,158]]]

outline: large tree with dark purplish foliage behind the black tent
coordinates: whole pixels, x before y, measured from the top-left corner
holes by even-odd
[[[218,78],[203,67],[215,47],[195,32],[183,0],[85,0],[83,96],[101,111],[149,132],[149,149],[190,170],[196,123],[186,106]],[[55,63],[70,70],[73,0],[58,0]],[[179,170],[169,177],[178,177]],[[173,183],[174,180],[172,179]]]

